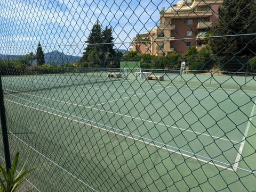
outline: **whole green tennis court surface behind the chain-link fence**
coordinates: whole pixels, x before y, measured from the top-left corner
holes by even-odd
[[[70,191],[255,190],[254,77],[131,73],[83,84],[76,74],[77,84],[50,86],[61,77],[71,79],[3,78],[11,146],[41,164],[45,188],[58,174]]]

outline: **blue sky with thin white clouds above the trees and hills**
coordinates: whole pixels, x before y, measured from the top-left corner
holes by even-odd
[[[132,38],[159,23],[159,11],[177,0],[1,0],[0,54],[60,51],[82,56],[93,24],[113,29],[115,48],[129,49]]]

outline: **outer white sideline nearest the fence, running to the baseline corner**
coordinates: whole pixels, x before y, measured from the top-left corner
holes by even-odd
[[[106,125],[103,125],[101,123],[97,123],[97,122],[94,122],[94,121],[90,121],[90,120],[87,120],[87,119],[84,119],[84,118],[80,118],[78,116],[75,116],[75,115],[71,115],[71,114],[68,114],[68,113],[64,113],[64,112],[61,112],[61,111],[58,111],[58,110],[55,110],[55,109],[52,109],[50,107],[46,107],[44,106],[45,108],[49,108],[51,110],[54,110],[54,111],[58,111],[60,113],[63,113],[63,114],[67,114],[68,116],[73,116],[74,118],[76,119],[80,119],[80,120],[75,120],[75,119],[71,119],[71,118],[68,118],[67,116],[63,116],[63,115],[59,115],[57,113],[53,113],[53,112],[49,112],[49,111],[45,111],[45,110],[41,110],[40,108],[36,108],[36,107],[31,107],[31,106],[28,106],[28,105],[25,105],[25,104],[21,104],[21,103],[18,103],[18,102],[14,102],[14,101],[11,101],[9,99],[6,99],[6,101],[9,101],[9,102],[12,102],[12,103],[15,103],[15,104],[18,104],[18,105],[21,105],[21,106],[25,106],[25,107],[28,107],[28,108],[32,108],[34,110],[37,110],[37,111],[42,111],[44,113],[48,113],[48,114],[51,114],[51,115],[55,115],[55,116],[59,116],[60,118],[64,118],[64,119],[68,119],[70,121],[75,121],[77,123],[82,123],[84,125],[87,125],[87,126],[91,126],[91,127],[94,127],[94,128],[97,128],[99,130],[103,130],[103,131],[107,131],[107,132],[111,132],[111,133],[114,133],[115,135],[119,135],[119,136],[123,136],[123,137],[126,137],[126,138],[129,138],[129,139],[132,139],[132,140],[135,140],[135,141],[138,141],[140,143],[144,143],[144,144],[147,144],[147,145],[151,145],[151,146],[154,146],[156,148],[159,148],[159,149],[165,149],[166,151],[169,151],[169,152],[172,152],[172,153],[177,153],[177,154],[180,154],[182,156],[186,156],[188,158],[193,158],[194,160],[197,160],[197,161],[200,161],[200,162],[204,162],[204,163],[207,163],[207,164],[211,164],[211,165],[214,165],[214,166],[217,166],[219,168],[222,168],[222,169],[226,169],[226,170],[230,170],[230,171],[233,171],[233,169],[229,168],[229,164],[228,163],[224,163],[224,162],[220,162],[220,161],[217,161],[217,160],[214,160],[212,158],[209,158],[209,157],[205,157],[205,156],[202,156],[202,155],[198,155],[198,154],[195,154],[195,153],[191,153],[191,152],[188,152],[188,151],[185,151],[183,149],[179,149],[177,147],[173,147],[173,146],[170,146],[170,145],[167,145],[167,144],[163,144],[161,142],[158,142],[158,141],[155,141],[155,140],[152,140],[152,139],[148,139],[148,138],[145,138],[145,137],[141,137],[141,136],[138,136],[138,135],[135,135],[133,133],[130,133],[130,132],[126,132],[126,131],[123,131],[123,130],[120,130],[120,129],[117,129],[117,128],[113,128],[113,127],[109,127],[109,126],[106,126]],[[39,105],[39,104],[38,104]],[[41,105],[42,106],[42,105]],[[86,121],[86,122],[84,122]],[[89,123],[90,122],[90,123]],[[97,126],[95,126],[95,124],[97,124]],[[109,129],[114,129],[114,130],[117,130],[118,132],[116,131],[111,131],[109,129],[106,129],[106,128],[102,128],[102,127],[99,127],[99,126],[102,126],[102,127],[106,127],[106,128],[109,128]],[[16,136],[15,136],[16,137]],[[134,138],[134,137],[137,137],[138,139]],[[147,140],[147,141],[145,141]],[[156,145],[156,144],[160,144],[160,145]],[[173,149],[171,149],[173,148]],[[184,152],[184,153],[187,153],[187,154],[183,154],[181,152]],[[198,158],[198,157],[201,157],[201,158]],[[205,160],[203,160],[202,158],[204,158]],[[50,160],[50,159],[49,159]],[[208,160],[208,161],[207,161]],[[53,161],[52,161],[53,162]],[[54,163],[54,162],[53,162]],[[220,164],[217,164],[217,163],[220,163],[220,164],[223,164],[223,165],[226,165],[226,166],[223,166],[223,165],[220,165]],[[59,166],[57,163],[54,163],[56,164],[57,166]],[[61,168],[61,167],[60,167]],[[63,168],[62,168],[63,169]],[[63,169],[64,170],[64,169]],[[67,173],[69,173],[67,170],[65,170]],[[69,173],[71,176],[73,176],[72,173]],[[74,177],[74,176],[73,176]],[[76,177],[76,176],[75,176]],[[77,177],[76,177],[77,178]]]

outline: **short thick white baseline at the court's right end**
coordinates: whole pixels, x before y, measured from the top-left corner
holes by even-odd
[[[255,106],[256,106],[256,99],[254,100],[254,104],[253,104],[252,111],[251,111],[251,114],[250,114],[250,119],[248,120],[246,129],[244,131],[244,136],[243,136],[243,139],[242,139],[242,143],[240,144],[240,147],[238,149],[238,153],[236,155],[236,160],[235,160],[235,164],[234,164],[234,170],[235,171],[238,168],[238,164],[239,164],[240,158],[242,156],[242,152],[243,152],[243,148],[244,148],[244,144],[245,144],[245,139],[248,135],[248,131],[249,131],[250,126],[251,126],[253,114],[254,114],[254,111],[255,111]]]

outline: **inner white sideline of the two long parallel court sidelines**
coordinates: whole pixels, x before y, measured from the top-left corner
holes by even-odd
[[[164,127],[166,127],[166,128],[171,127],[171,128],[173,128],[173,129],[178,129],[178,130],[181,130],[181,131],[188,131],[188,132],[196,133],[197,135],[203,135],[203,136],[211,137],[211,138],[215,138],[215,139],[220,139],[220,140],[225,140],[225,141],[231,141],[232,143],[239,143],[239,141],[230,140],[230,139],[226,139],[226,138],[222,138],[222,137],[217,137],[217,136],[209,135],[209,134],[202,133],[202,132],[198,132],[198,131],[192,131],[192,130],[188,130],[188,129],[178,128],[178,127],[170,126],[169,124],[164,124],[164,123],[159,123],[159,122],[150,121],[150,120],[146,120],[146,119],[141,119],[141,118],[137,118],[137,117],[134,117],[134,116],[131,116],[131,115],[124,115],[124,114],[121,114],[121,113],[114,113],[114,112],[111,112],[111,111],[99,110],[98,108],[93,108],[93,107],[90,107],[90,106],[79,105],[79,104],[76,104],[76,103],[70,103],[70,102],[60,101],[60,100],[58,100],[58,99],[52,99],[52,98],[42,97],[42,96],[37,96],[37,95],[32,95],[32,94],[28,94],[28,93],[21,93],[21,94],[23,94],[23,95],[29,95],[29,96],[33,96],[33,97],[44,98],[44,99],[48,99],[48,100],[55,101],[55,102],[59,102],[59,103],[65,103],[65,104],[69,104],[69,105],[75,105],[75,106],[78,106],[78,107],[90,108],[91,110],[101,111],[101,112],[110,113],[110,114],[119,115],[119,116],[124,116],[124,117],[126,117],[126,118],[136,119],[136,120],[140,120],[140,121],[143,121],[143,122],[149,122],[149,123],[153,123],[154,126],[159,125],[159,126],[164,126]],[[12,96],[14,96],[14,95],[12,95]],[[14,97],[17,97],[17,98],[23,99],[23,100],[25,100],[25,101],[28,101],[27,99],[24,99],[24,98],[21,98],[21,97],[18,97],[18,96],[14,96]]]

